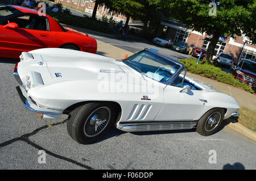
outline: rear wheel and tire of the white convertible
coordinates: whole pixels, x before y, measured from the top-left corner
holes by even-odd
[[[210,136],[215,133],[223,121],[224,113],[221,108],[214,108],[205,113],[197,122],[196,132],[202,136]]]

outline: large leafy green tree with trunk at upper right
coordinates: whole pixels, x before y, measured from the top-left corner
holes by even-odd
[[[211,60],[220,36],[240,36],[245,33],[255,41],[255,0],[148,0],[151,4],[162,4],[164,9],[189,29],[213,35],[207,49],[207,60]],[[210,3],[215,3],[210,6]],[[214,14],[214,6],[216,14]]]

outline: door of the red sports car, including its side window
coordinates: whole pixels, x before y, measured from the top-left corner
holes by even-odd
[[[18,57],[22,52],[54,47],[54,36],[49,31],[48,19],[36,14],[23,14],[8,19],[18,28],[3,28],[0,25],[1,54]],[[6,22],[8,23],[8,22]]]

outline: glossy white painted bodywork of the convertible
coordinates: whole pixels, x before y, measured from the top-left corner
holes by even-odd
[[[180,92],[181,87],[154,81],[123,62],[97,54],[69,49],[45,48],[32,50],[28,53],[23,52],[20,59],[18,74],[25,87],[27,75],[31,71],[38,72],[42,76],[44,85],[31,87],[27,90],[24,86],[20,86],[28,104],[37,112],[46,111],[59,114],[63,113],[69,106],[85,101],[116,102],[122,109],[117,128],[123,129],[119,125],[122,122],[195,121],[212,108],[225,108],[224,119],[228,119],[232,113],[240,109],[232,96],[222,94],[213,89],[212,86],[191,77],[186,76],[185,79],[201,90]],[[102,73],[101,70],[113,70],[117,71],[117,74],[127,76],[128,74],[133,75],[133,81],[130,79],[121,80],[122,86],[137,87],[142,90],[148,83],[154,83],[156,85],[155,91],[158,94],[142,91],[104,92],[99,89],[102,79],[98,76],[100,73],[110,73]],[[57,77],[55,73],[60,73],[61,77]],[[117,83],[117,80],[110,77],[105,82]],[[143,95],[147,95],[151,100],[142,100]],[[126,131],[126,129],[123,130]]]

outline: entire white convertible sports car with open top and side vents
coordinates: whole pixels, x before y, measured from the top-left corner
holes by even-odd
[[[125,60],[76,50],[23,52],[14,69],[24,106],[40,117],[67,114],[69,135],[89,144],[116,127],[126,132],[192,129],[208,136],[239,116],[232,96],[186,75],[154,49]]]

